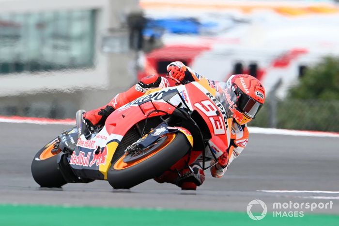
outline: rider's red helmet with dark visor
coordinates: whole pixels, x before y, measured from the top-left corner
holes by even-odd
[[[233,118],[240,125],[255,118],[265,102],[265,89],[250,75],[232,75],[226,82],[223,95]]]

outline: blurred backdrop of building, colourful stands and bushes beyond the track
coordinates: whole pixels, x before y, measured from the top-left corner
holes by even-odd
[[[0,115],[73,118],[182,61],[255,76],[249,126],[339,131],[334,0],[0,0]]]

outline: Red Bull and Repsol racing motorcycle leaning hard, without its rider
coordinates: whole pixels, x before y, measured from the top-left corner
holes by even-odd
[[[185,83],[147,91],[111,113],[102,127],[87,126],[79,110],[77,127],[35,155],[34,180],[41,187],[108,180],[114,189],[128,189],[167,170],[181,176],[195,161],[207,170],[207,162],[230,144],[228,102],[234,97],[222,95],[224,82]]]

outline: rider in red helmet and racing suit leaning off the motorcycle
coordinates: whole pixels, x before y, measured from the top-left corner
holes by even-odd
[[[182,62],[172,62],[167,66],[169,77],[176,81],[199,81],[202,76],[194,72]],[[208,80],[209,84],[216,88],[217,81]],[[103,107],[94,109],[84,114],[84,119],[90,126],[103,126],[109,114],[115,109],[141,97],[146,91],[156,88],[169,87],[169,81],[157,75],[144,77],[136,85],[127,91],[113,97]],[[248,142],[247,123],[258,113],[265,100],[265,90],[259,80],[250,75],[232,75],[226,82],[226,89],[222,95],[229,102],[230,110],[233,113],[231,127],[231,143],[228,149],[218,158],[218,162],[212,161],[211,174],[215,178],[221,178],[229,167],[230,163],[243,151]],[[235,99],[230,98],[235,97]],[[204,179],[204,172],[198,162],[193,163],[191,169],[187,168],[180,172],[166,171],[155,180],[159,183],[168,182],[181,187],[183,190],[195,190]]]

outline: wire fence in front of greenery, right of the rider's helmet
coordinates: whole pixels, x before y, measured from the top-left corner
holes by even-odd
[[[270,98],[249,126],[339,132],[339,100]]]

